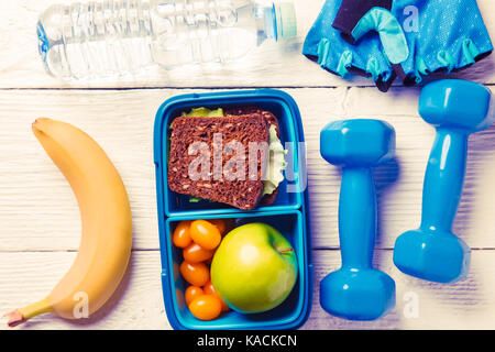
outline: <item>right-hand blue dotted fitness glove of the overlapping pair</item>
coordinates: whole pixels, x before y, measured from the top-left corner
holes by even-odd
[[[392,11],[403,23],[410,52],[395,67],[406,85],[431,73],[470,67],[493,51],[476,0],[395,0]]]

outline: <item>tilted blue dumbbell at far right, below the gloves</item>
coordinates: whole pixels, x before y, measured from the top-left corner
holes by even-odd
[[[490,102],[487,88],[466,80],[439,80],[422,89],[419,114],[436,127],[437,139],[425,175],[421,224],[395,242],[394,263],[403,273],[437,283],[468,275],[471,250],[452,233],[452,224],[464,183],[468,139],[493,123]]]

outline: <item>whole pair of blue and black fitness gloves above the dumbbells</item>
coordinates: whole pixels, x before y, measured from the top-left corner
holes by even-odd
[[[331,53],[319,52],[320,42],[330,38]],[[341,76],[345,72],[334,70],[334,59],[328,57],[359,57],[345,61],[346,72],[373,76],[386,91],[396,76],[405,85],[414,85],[435,72],[471,66],[492,51],[475,0],[328,0],[302,53]]]

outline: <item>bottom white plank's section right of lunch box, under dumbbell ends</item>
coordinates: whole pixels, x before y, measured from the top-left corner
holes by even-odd
[[[310,330],[336,329],[494,329],[494,251],[474,251],[470,275],[455,284],[428,283],[400,273],[392,262],[392,251],[377,251],[375,266],[396,283],[396,307],[375,321],[350,322],[328,315],[319,306],[319,282],[340,267],[336,251],[315,252],[315,297]]]

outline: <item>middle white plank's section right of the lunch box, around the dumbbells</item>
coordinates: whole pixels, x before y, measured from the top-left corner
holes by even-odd
[[[421,216],[421,190],[427,160],[435,139],[435,130],[417,113],[419,89],[396,88],[391,95],[382,95],[373,88],[350,88],[342,117],[372,118],[389,122],[396,130],[396,160],[375,170],[378,195],[378,242],[380,248],[392,249],[395,238],[404,231],[419,226]],[[323,107],[322,107],[323,108]],[[315,108],[314,108],[315,109]],[[315,111],[315,113],[321,113]],[[316,246],[333,246],[338,237],[337,209],[340,174],[326,165],[318,154],[316,127],[304,114],[308,140],[308,174],[311,190],[311,217]],[[329,120],[332,118],[329,118]],[[306,128],[306,127],[309,128]],[[494,176],[493,157],[495,127],[475,133],[469,143],[468,169],[464,190],[454,223],[458,233],[474,248],[493,248],[491,221],[493,213],[493,190],[490,178]],[[314,153],[311,153],[311,151]],[[329,175],[331,175],[329,177]],[[321,191],[326,189],[326,191]],[[332,189],[332,190],[331,190]],[[332,193],[329,200],[329,194]],[[407,213],[407,216],[405,216]],[[333,215],[333,216],[332,216]],[[321,230],[320,230],[321,229]],[[324,232],[323,232],[324,229]]]

